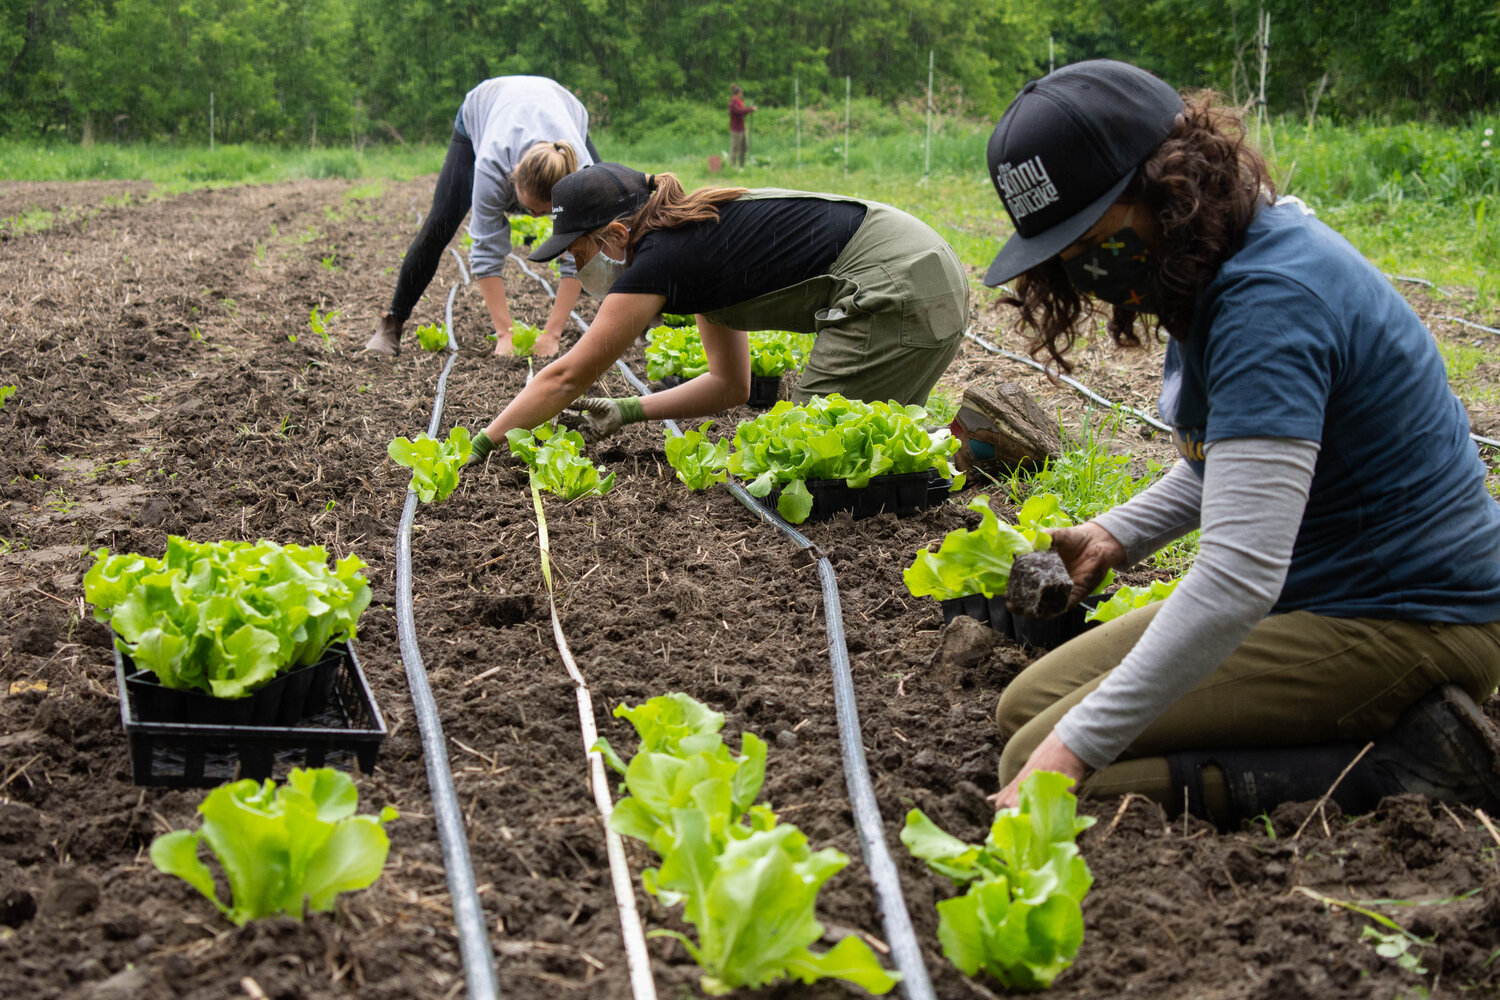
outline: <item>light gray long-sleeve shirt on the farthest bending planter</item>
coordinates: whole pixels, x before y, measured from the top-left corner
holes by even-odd
[[[474,277],[500,274],[510,253],[510,219],[522,211],[512,172],[536,142],[562,141],[578,153],[579,168],[591,165],[584,145],[588,111],[578,97],[546,76],[495,76],[464,97],[464,130],[474,144],[474,204],[470,216],[470,270]],[[573,256],[560,261],[562,276],[574,274]]]

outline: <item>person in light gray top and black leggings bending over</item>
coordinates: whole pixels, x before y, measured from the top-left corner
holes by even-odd
[[[453,138],[432,192],[432,208],[406,247],[390,310],[382,312],[366,351],[396,355],[400,328],[428,289],[459,223],[472,207],[470,270],[495,322],[495,354],[510,354],[510,306],[500,276],[510,253],[507,214],[543,214],[552,208],[552,186],[598,159],[588,139],[588,111],[561,84],[544,76],[495,76],[468,91],[453,118]],[[579,283],[572,258],[537,337],[536,354],[558,352]]]

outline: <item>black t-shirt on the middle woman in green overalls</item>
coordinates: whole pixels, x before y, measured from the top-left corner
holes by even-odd
[[[648,232],[612,292],[664,295],[664,312],[712,312],[826,273],[864,205],[825,198],[732,201],[718,222]]]

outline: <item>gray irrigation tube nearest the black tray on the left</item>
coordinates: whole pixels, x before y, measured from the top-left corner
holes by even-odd
[[[464,276],[465,283],[468,274]],[[438,436],[438,421],[442,418],[442,399],[448,390],[448,372],[458,360],[458,340],[453,337],[453,300],[459,286],[448,289],[447,327],[448,360],[438,376],[438,388],[432,400],[432,421],[428,433]],[[417,622],[411,610],[411,522],[417,513],[417,490],[406,487],[406,505],[400,511],[400,528],[396,532],[396,639],[400,643],[400,661],[406,669],[406,684],[411,688],[411,703],[422,733],[422,757],[428,766],[428,787],[432,792],[432,813],[438,825],[438,841],[442,846],[442,868],[448,880],[448,898],[453,903],[453,924],[459,939],[459,955],[464,961],[464,979],[471,1000],[494,1000],[500,996],[495,982],[495,957],[489,948],[489,933],[484,927],[484,909],[474,885],[474,867],[470,861],[468,834],[464,829],[464,810],[459,808],[458,792],[453,787],[453,771],[448,768],[448,750],[442,736],[442,720],[432,699],[432,685],[417,648]]]

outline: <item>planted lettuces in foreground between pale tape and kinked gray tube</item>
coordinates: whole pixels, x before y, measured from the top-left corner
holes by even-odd
[[[832,849],[813,852],[801,831],[753,805],[765,781],[765,742],[741,733],[734,754],[718,735],[724,717],[686,694],[621,705],[615,717],[636,727],[640,750],[627,765],[606,741],[594,745],[630,792],[610,826],[662,856],[640,883],[664,906],[681,904],[698,940],[676,931],[652,937],[682,942],[704,970],[704,991],[844,979],[890,993],[898,973],[882,969],[858,937],[826,952],[810,948],[824,933],[818,892],[849,859]]]

